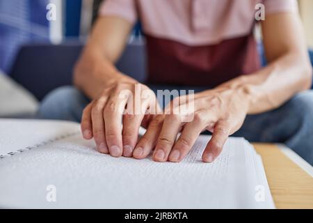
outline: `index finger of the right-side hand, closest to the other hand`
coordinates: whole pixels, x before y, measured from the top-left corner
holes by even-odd
[[[143,137],[139,139],[136,148],[134,149],[133,156],[136,159],[144,159],[149,155],[157,144],[157,139],[163,126],[164,116],[155,116],[150,122],[147,131],[143,134]]]

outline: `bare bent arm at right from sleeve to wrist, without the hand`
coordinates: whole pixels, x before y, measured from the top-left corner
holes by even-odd
[[[268,66],[223,84],[246,93],[250,100],[248,114],[279,107],[308,89],[312,80],[302,24],[296,13],[267,16],[262,32]]]

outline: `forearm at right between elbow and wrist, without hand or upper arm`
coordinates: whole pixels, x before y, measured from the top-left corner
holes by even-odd
[[[229,88],[249,100],[248,114],[275,109],[296,93],[308,89],[312,68],[306,55],[284,54],[266,68],[251,75],[243,75],[218,88]]]

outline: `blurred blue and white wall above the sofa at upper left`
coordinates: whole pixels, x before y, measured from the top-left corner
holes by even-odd
[[[103,0],[0,0],[0,68],[9,72],[25,43],[85,39]],[[56,20],[47,20],[48,4]]]

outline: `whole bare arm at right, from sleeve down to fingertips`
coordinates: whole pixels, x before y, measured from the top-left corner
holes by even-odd
[[[137,148],[151,151],[147,139],[152,138],[153,132],[160,132],[155,133],[159,134],[159,139],[154,160],[179,162],[191,150],[202,130],[209,130],[212,137],[202,159],[213,162],[227,137],[241,128],[247,114],[275,109],[310,86],[312,68],[301,27],[296,13],[268,15],[262,23],[268,66],[251,75],[232,79],[216,89],[195,94],[193,121],[183,123],[179,115],[168,115],[163,125],[154,126],[151,131],[148,129]],[[182,126],[182,134],[176,141]],[[145,155],[136,157],[144,158]]]

